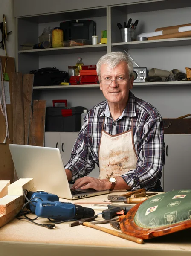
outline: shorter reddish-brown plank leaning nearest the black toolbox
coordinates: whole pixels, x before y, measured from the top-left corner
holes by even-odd
[[[29,145],[44,146],[45,114],[46,100],[34,100]]]

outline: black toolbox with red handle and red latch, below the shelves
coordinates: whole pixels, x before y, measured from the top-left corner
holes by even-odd
[[[80,131],[84,107],[67,108],[67,100],[53,100],[53,107],[46,108],[45,131]],[[65,107],[55,107],[64,102]]]

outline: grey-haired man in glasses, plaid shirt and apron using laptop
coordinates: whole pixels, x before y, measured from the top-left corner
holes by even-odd
[[[72,189],[162,191],[164,135],[159,112],[133,88],[133,64],[122,52],[97,63],[100,90],[107,99],[87,113],[65,166]],[[99,179],[87,176],[95,164]]]

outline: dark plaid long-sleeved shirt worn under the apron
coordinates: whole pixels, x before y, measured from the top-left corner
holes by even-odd
[[[72,172],[72,183],[88,175],[95,163],[99,166],[98,149],[103,121],[104,131],[115,135],[130,130],[132,117],[133,141],[138,160],[136,169],[121,177],[132,190],[145,188],[149,191],[160,186],[159,179],[165,160],[162,117],[156,108],[136,98],[131,92],[126,108],[116,121],[110,116],[107,100],[87,113],[72,149],[71,159],[65,166]]]

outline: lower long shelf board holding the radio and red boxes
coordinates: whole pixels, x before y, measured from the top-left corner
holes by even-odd
[[[154,82],[154,83],[134,83],[133,87],[160,87],[160,86],[191,86],[191,81],[176,81],[176,82]],[[99,84],[85,85],[50,85],[50,86],[34,86],[33,90],[55,90],[55,89],[87,89],[99,88]]]

